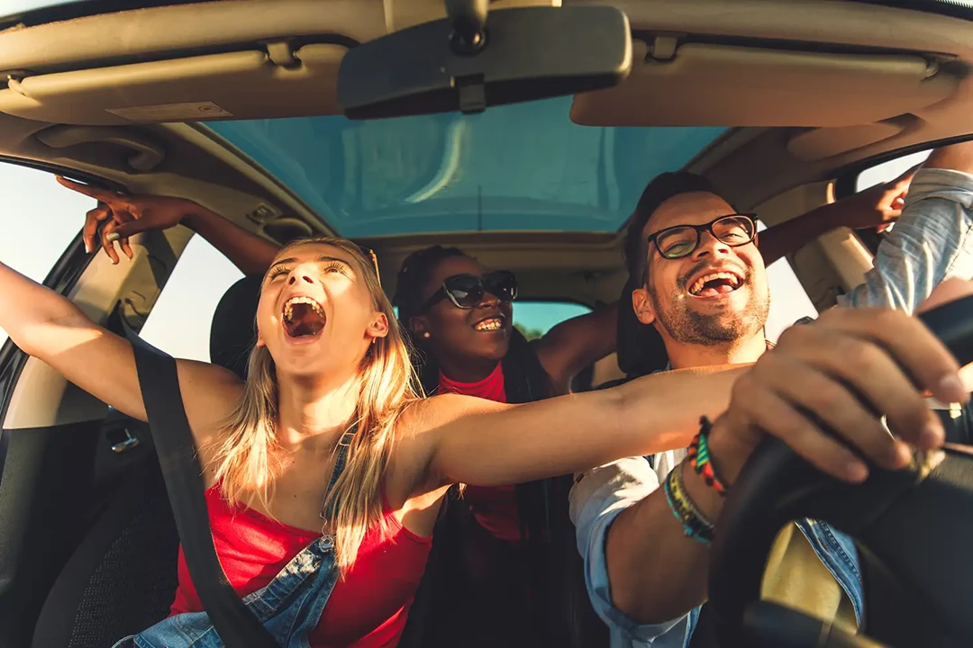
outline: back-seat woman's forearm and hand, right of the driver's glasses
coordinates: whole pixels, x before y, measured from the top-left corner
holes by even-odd
[[[764,256],[764,263],[770,265],[837,227],[865,229],[894,222],[902,214],[904,198],[915,172],[915,169],[910,169],[895,180],[769,227],[760,234],[760,253]]]

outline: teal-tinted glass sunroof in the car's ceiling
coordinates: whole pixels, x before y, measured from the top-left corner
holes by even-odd
[[[214,121],[343,236],[615,231],[725,128],[579,126],[571,98],[465,117]]]

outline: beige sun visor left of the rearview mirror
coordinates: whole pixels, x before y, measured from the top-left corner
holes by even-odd
[[[54,123],[122,125],[336,115],[346,48],[286,45],[28,76],[0,90],[0,112]]]

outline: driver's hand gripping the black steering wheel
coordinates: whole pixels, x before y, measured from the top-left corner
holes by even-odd
[[[884,309],[832,309],[784,331],[776,348],[739,378],[730,408],[710,433],[714,467],[732,484],[765,433],[851,483],[868,476],[862,459],[905,467],[909,444],[926,450],[943,444],[943,426],[922,391],[965,402],[958,370],[917,319]]]

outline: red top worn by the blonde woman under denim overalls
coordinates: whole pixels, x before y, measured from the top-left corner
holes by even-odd
[[[270,584],[277,573],[321,533],[275,522],[253,509],[231,508],[214,486],[206,491],[213,544],[239,597]],[[394,648],[406,627],[432,538],[415,535],[395,519],[382,495],[388,533],[365,535],[355,563],[335,584],[310,648]],[[179,587],[172,614],[202,610],[179,548]]]

